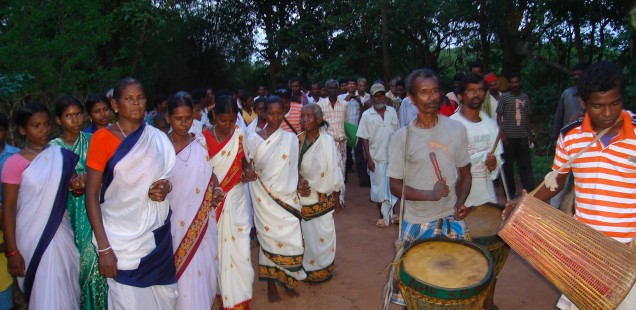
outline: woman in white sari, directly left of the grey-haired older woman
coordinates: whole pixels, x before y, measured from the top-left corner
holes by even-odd
[[[258,180],[250,184],[254,225],[261,249],[258,274],[267,281],[270,302],[280,302],[276,283],[290,296],[306,275],[302,268],[303,239],[298,200],[298,138],[280,129],[285,112],[280,98],[265,103],[267,126],[249,136],[248,157],[254,160]]]

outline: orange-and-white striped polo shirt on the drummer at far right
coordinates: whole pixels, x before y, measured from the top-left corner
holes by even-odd
[[[636,118],[623,111],[623,126],[607,146],[600,141],[560,173],[574,174],[575,218],[622,243],[636,235]],[[596,136],[588,115],[566,126],[557,142],[557,171]]]

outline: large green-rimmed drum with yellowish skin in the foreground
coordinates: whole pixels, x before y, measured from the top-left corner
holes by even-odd
[[[480,310],[492,277],[492,258],[484,248],[434,238],[406,251],[397,282],[408,309]]]

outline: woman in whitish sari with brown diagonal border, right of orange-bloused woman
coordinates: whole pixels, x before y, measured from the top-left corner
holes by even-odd
[[[189,98],[168,99],[166,122],[176,150],[166,200],[173,211],[172,246],[177,269],[177,309],[211,309],[217,283],[217,226],[214,208],[223,197],[212,173],[203,134],[190,134],[193,109]]]

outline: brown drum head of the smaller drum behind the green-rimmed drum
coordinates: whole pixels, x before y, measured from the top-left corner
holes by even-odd
[[[464,219],[471,238],[496,236],[501,226],[503,208],[495,204],[474,207]]]

